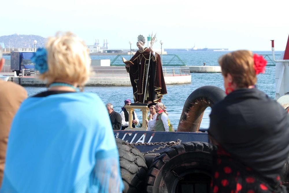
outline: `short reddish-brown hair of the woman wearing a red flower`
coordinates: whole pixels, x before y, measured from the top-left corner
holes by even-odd
[[[232,76],[232,83],[239,88],[255,85],[257,82],[254,70],[253,54],[249,50],[238,50],[225,54],[218,60],[223,76]]]

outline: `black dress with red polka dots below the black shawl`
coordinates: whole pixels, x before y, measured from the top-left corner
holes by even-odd
[[[285,193],[280,177],[266,179],[218,146],[213,159],[211,193]]]

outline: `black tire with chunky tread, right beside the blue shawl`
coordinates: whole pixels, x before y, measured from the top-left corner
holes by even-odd
[[[126,145],[127,142],[116,139],[121,168],[121,178],[125,186],[124,193],[141,193],[145,187],[147,165],[141,152]]]

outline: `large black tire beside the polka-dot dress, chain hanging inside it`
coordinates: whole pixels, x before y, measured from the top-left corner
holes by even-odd
[[[215,146],[205,142],[186,142],[168,148],[150,166],[147,192],[210,192],[214,150]],[[202,190],[198,185],[192,185],[190,190],[182,189],[184,181],[203,185]]]

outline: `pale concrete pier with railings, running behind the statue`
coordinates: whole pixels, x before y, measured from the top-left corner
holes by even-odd
[[[131,86],[129,73],[125,66],[110,66],[110,60],[92,60],[91,62],[92,75],[85,86]],[[163,72],[166,84],[191,83],[192,77],[188,67],[163,67]],[[22,86],[46,86],[46,83],[39,80],[34,74],[14,77],[14,72],[10,69],[10,60],[5,61],[0,74],[10,76],[8,81]]]

